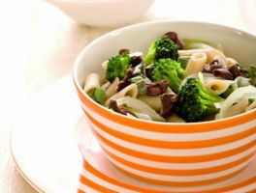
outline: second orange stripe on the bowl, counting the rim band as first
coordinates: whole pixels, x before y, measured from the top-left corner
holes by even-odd
[[[252,134],[256,133],[256,126],[253,126],[249,129],[244,129],[244,131],[230,135],[227,137],[215,138],[215,139],[208,139],[208,140],[201,140],[201,141],[186,141],[186,142],[172,142],[172,141],[160,141],[160,140],[151,140],[145,139],[142,137],[137,137],[129,134],[125,134],[123,132],[117,131],[112,129],[111,127],[100,124],[95,119],[93,119],[90,115],[86,113],[88,119],[95,124],[100,129],[104,130],[105,132],[109,133],[110,135],[135,144],[140,144],[144,146],[154,147],[154,148],[161,148],[161,149],[200,149],[200,148],[207,148],[211,146],[218,146],[223,144],[228,144],[231,142],[238,141],[240,139],[244,139]]]

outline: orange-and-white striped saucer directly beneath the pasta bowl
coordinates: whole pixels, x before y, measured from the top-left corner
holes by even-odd
[[[182,193],[203,193],[203,192],[256,192],[256,155],[252,161],[238,175],[232,179],[212,183],[205,186],[173,187],[146,183],[139,179],[133,179],[116,169],[110,160],[103,153],[89,129],[84,129],[86,120],[80,123],[80,136],[86,134],[86,140],[80,140],[80,151],[83,154],[83,170],[80,174],[79,192],[182,192]],[[86,132],[86,133],[85,133]]]

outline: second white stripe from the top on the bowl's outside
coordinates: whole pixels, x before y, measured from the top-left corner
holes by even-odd
[[[104,138],[108,139],[112,143],[124,147],[133,151],[140,151],[140,152],[145,152],[145,153],[150,153],[150,154],[155,154],[155,155],[167,155],[167,156],[198,156],[198,155],[208,155],[208,154],[213,154],[217,152],[226,152],[230,150],[234,150],[237,148],[240,148],[254,140],[256,140],[256,133],[253,135],[250,135],[249,137],[243,138],[239,141],[236,142],[231,142],[228,144],[220,145],[220,146],[213,146],[213,147],[208,147],[208,148],[202,148],[202,149],[161,149],[161,148],[152,148],[149,146],[144,146],[144,145],[139,145],[136,143],[124,141],[120,138],[116,138],[109,133],[105,132],[95,124],[92,124],[89,121],[89,124],[92,125],[93,129],[97,131],[101,136]]]

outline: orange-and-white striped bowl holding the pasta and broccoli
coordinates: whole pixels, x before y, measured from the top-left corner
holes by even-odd
[[[244,169],[256,152],[256,110],[205,123],[157,123],[112,112],[82,92],[86,75],[103,74],[101,63],[120,48],[145,52],[151,41],[168,31],[176,31],[181,39],[220,43],[225,54],[240,64],[256,62],[256,37],[230,27],[174,21],[125,27],[92,41],[81,51],[74,69],[81,108],[106,156],[129,176],[172,186],[229,179]]]

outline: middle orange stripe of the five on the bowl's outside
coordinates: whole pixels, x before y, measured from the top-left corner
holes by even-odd
[[[217,152],[217,153],[198,155],[198,156],[165,156],[165,155],[156,155],[156,154],[150,154],[145,152],[138,152],[125,147],[121,147],[107,140],[106,138],[104,138],[94,130],[93,130],[93,133],[98,138],[98,140],[102,141],[104,144],[107,144],[113,150],[116,150],[118,152],[123,152],[138,158],[143,158],[145,160],[152,160],[156,162],[166,162],[166,163],[194,163],[194,162],[212,161],[212,160],[217,160],[224,157],[229,157],[229,156],[238,154],[240,152],[245,152],[256,145],[255,144],[256,140],[254,140],[253,142],[250,142],[240,148],[237,148],[231,151],[226,151],[226,152]],[[102,148],[104,149],[104,147]]]

